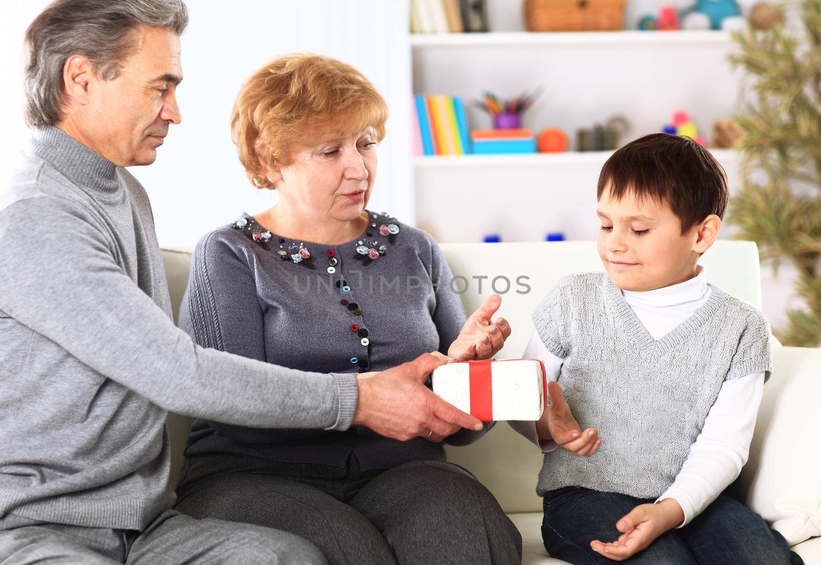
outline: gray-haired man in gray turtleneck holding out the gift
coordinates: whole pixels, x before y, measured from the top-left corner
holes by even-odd
[[[57,0],[25,34],[29,149],[0,192],[0,562],[323,563],[295,535],[171,510],[166,411],[264,428],[480,429],[422,384],[197,347],[123,167],[181,121],[181,0]],[[318,400],[319,399],[319,400]]]

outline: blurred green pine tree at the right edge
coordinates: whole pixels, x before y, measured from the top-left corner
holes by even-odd
[[[737,237],[756,241],[773,269],[798,269],[785,344],[821,345],[821,0],[798,5],[802,27],[733,34],[733,65],[747,73],[747,99],[736,120],[745,131],[741,191],[730,202]]]

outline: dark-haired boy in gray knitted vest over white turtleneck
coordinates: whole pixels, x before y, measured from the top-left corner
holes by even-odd
[[[545,452],[537,492],[555,558],[790,562],[782,536],[722,494],[772,369],[764,315],[697,264],[727,195],[723,169],[689,138],[625,145],[599,177],[607,273],[563,278],[534,312],[524,357],[544,362],[552,403],[514,428]]]

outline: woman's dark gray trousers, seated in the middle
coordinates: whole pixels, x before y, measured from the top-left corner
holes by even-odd
[[[516,526],[461,467],[353,467],[197,456],[186,464],[177,510],[290,531],[332,565],[521,563]]]

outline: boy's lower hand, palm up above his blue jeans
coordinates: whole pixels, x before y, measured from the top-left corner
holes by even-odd
[[[616,541],[605,544],[593,540],[590,547],[613,561],[624,561],[647,549],[659,535],[682,521],[684,511],[675,498],[665,498],[658,504],[640,504],[616,522],[616,529],[621,531]]]

